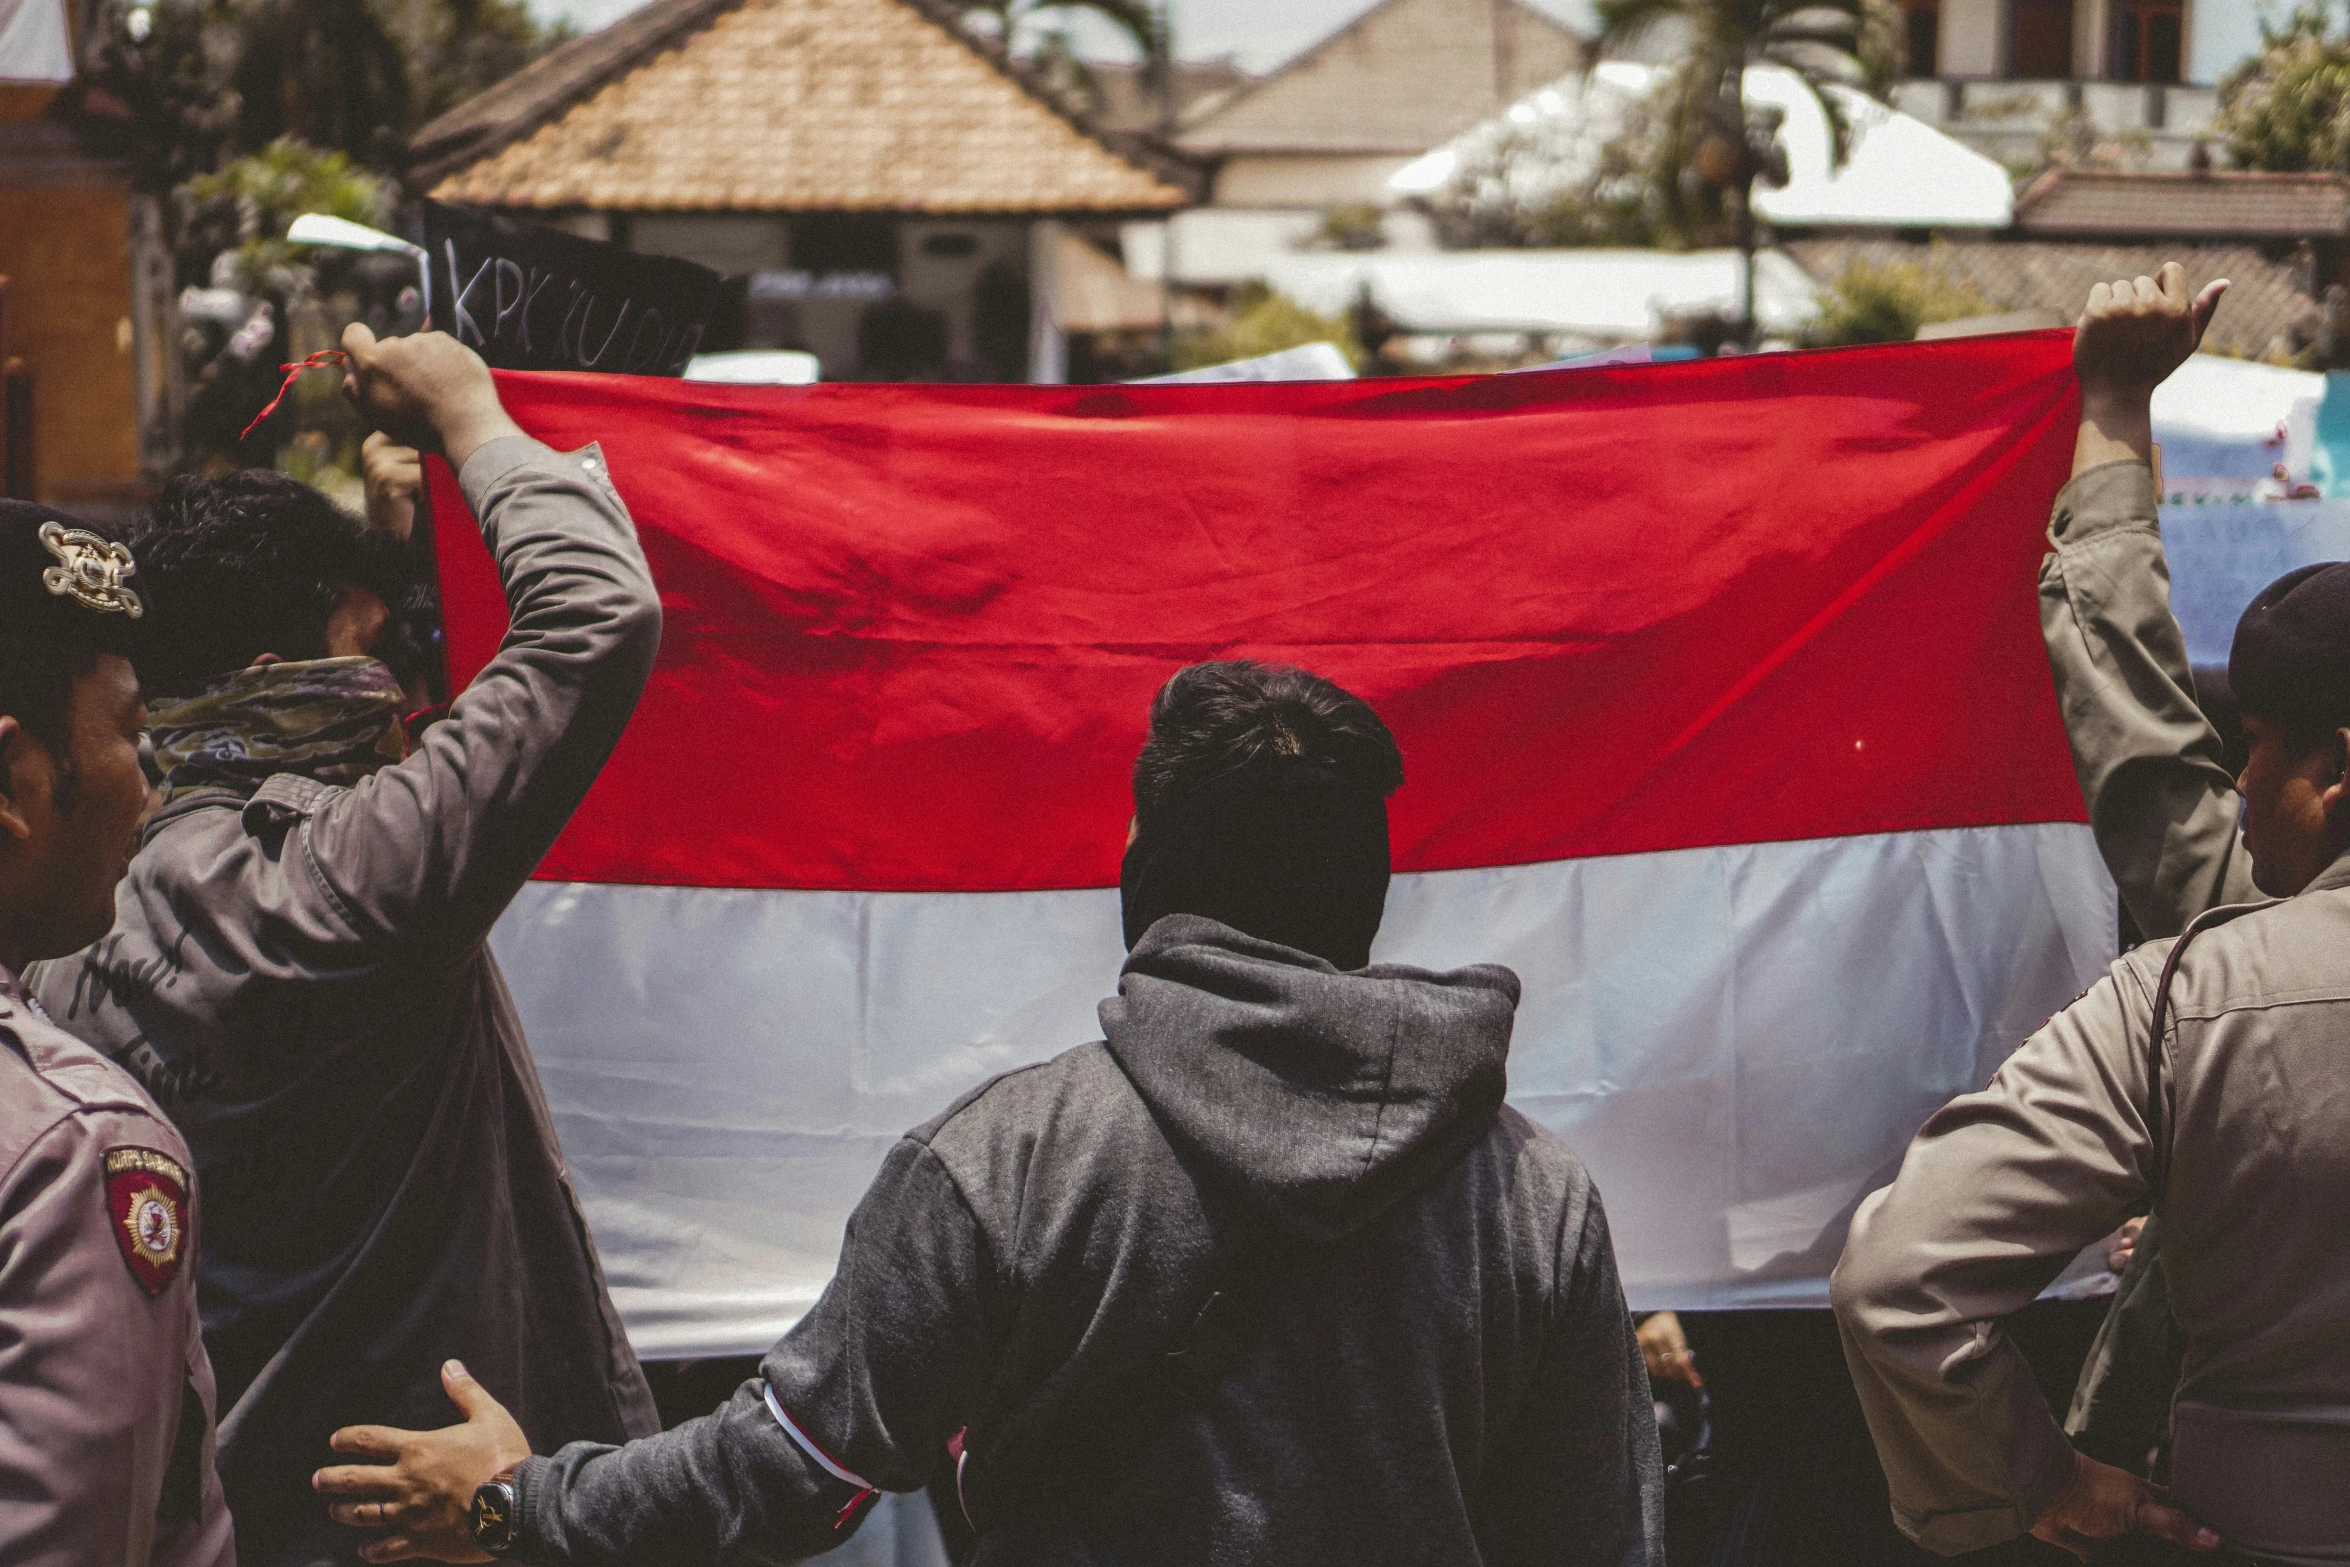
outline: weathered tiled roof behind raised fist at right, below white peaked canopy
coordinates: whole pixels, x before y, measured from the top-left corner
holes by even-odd
[[[2066,244],[2059,240],[1791,240],[1784,249],[1817,282],[1831,284],[1852,261],[1948,265],[1974,284],[1993,310],[2049,310],[2075,320],[2089,289],[2117,277],[2150,277],[2164,261],[2188,268],[2188,287],[2230,280],[2228,298],[2204,345],[2223,355],[2270,359],[2296,352],[2324,315],[2303,289],[2301,270],[2270,261],[2247,244]]]

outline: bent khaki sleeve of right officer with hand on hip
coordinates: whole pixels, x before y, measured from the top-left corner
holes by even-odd
[[[2073,1447],[2000,1323],[2146,1208],[2148,1013],[2131,961],[2115,963],[1983,1092],[1936,1111],[1852,1219],[1835,1320],[1894,1522],[1929,1551],[2014,1539],[2073,1482]]]

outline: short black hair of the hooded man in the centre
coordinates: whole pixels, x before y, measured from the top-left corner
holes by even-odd
[[[1403,787],[1403,752],[1370,702],[1307,670],[1234,658],[1177,670],[1152,698],[1135,818],[1149,825],[1267,756],[1316,761],[1382,799]]]

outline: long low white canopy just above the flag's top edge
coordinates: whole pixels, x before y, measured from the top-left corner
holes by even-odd
[[[1732,312],[1737,251],[1295,251],[1264,282],[1307,310],[1335,315],[1363,291],[1403,331],[1563,334],[1645,341],[1668,317]],[[1817,312],[1817,287],[1781,251],[1755,258],[1755,317],[1786,336]]]

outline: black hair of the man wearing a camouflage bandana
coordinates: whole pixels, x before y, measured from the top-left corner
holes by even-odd
[[[190,695],[261,653],[324,658],[327,623],[352,587],[407,599],[400,547],[301,479],[261,468],[172,479],[132,531],[150,594],[139,674]]]

